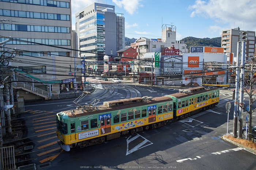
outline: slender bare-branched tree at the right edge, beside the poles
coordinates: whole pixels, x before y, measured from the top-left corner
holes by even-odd
[[[254,77],[254,74],[256,73],[256,57],[252,56],[249,57],[251,60],[245,64],[245,72],[248,73],[248,77],[244,76],[245,80],[245,86],[243,88],[243,91],[249,95],[249,111],[246,110],[244,106],[241,106],[242,109],[249,115],[249,140],[252,140],[252,113],[255,112],[256,109],[252,110],[252,104],[256,102],[256,78]]]

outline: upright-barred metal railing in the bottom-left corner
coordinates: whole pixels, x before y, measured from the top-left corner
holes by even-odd
[[[0,169],[15,170],[14,146],[0,148]]]

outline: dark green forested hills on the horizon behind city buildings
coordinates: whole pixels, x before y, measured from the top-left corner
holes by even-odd
[[[125,37],[125,46],[130,46],[131,43],[135,42],[135,38],[128,38]],[[216,38],[195,38],[195,37],[186,37],[180,40],[181,42],[184,41],[187,44],[187,49],[191,46],[207,46],[207,47],[221,47],[221,37]]]

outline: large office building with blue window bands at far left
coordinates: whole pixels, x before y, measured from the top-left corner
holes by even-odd
[[[11,41],[5,43],[6,48],[19,49],[9,63],[15,69],[16,80],[33,82],[26,83],[31,84],[33,90],[38,87],[53,93],[60,92],[61,82],[74,86],[75,78],[69,74],[74,73],[76,67],[75,53],[70,50],[74,44],[71,0],[0,0],[0,19],[1,42],[11,37]],[[28,100],[36,96],[33,91],[20,89],[17,94]],[[46,97],[37,97],[40,98]]]

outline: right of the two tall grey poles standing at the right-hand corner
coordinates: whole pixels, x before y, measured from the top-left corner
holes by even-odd
[[[242,126],[244,114],[244,61],[245,61],[245,41],[242,41],[241,73],[240,73],[240,106],[238,119],[238,139],[242,139]],[[239,105],[238,105],[239,106]]]

